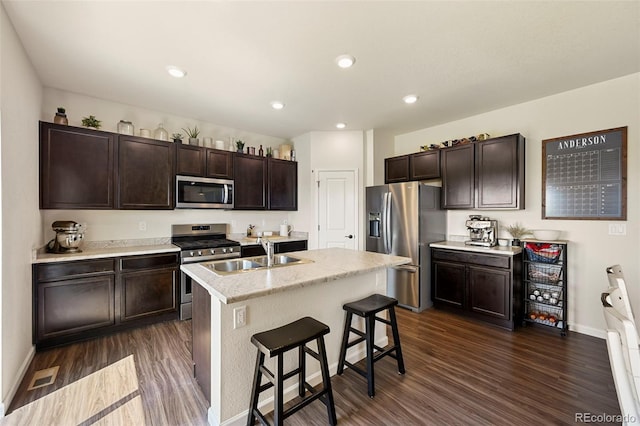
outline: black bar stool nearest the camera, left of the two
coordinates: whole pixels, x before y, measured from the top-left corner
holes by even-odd
[[[320,399],[327,406],[329,415],[329,424],[337,424],[336,409],[333,404],[333,393],[331,391],[331,378],[329,376],[329,365],[327,364],[327,352],[324,345],[324,335],[329,333],[329,327],[320,321],[311,317],[304,317],[282,327],[273,330],[264,331],[251,336],[251,343],[258,348],[258,357],[256,359],[256,368],[253,376],[253,389],[251,391],[251,407],[249,408],[249,417],[247,425],[253,425],[256,417],[263,424],[268,424],[264,415],[258,410],[258,397],[261,392],[274,388],[273,402],[273,424],[282,425],[285,418],[291,414],[307,406],[316,399]],[[307,343],[315,340],[318,345],[318,352],[307,347]],[[283,356],[284,353],[298,348],[298,368],[284,373]],[[277,356],[276,372],[273,373],[264,365],[265,354],[270,358]],[[316,391],[307,383],[305,378],[305,354],[314,357],[320,363],[322,371],[322,389]],[[262,384],[262,375],[269,380]],[[302,400],[298,401],[294,406],[284,410],[283,401],[283,384],[284,381],[295,375],[298,378],[298,394]],[[305,397],[305,390],[311,392]]]

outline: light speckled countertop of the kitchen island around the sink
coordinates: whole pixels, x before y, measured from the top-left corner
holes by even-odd
[[[287,256],[299,257],[312,262],[229,275],[218,275],[207,268],[206,265],[211,262],[182,265],[180,269],[223,303],[230,304],[361,275],[411,261],[407,257],[343,248],[297,251],[287,253]]]

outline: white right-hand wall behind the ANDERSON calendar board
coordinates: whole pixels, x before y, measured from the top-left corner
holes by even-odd
[[[479,133],[526,137],[526,209],[488,211],[500,228],[516,221],[530,229],[561,229],[569,240],[569,325],[586,334],[604,336],[600,293],[607,286],[605,268],[619,263],[629,281],[636,312],[640,311],[640,74],[594,84],[532,102],[488,112],[404,134],[395,138],[395,154],[419,151],[420,145]],[[608,235],[610,221],[542,220],[542,140],[628,126],[627,226],[625,236]],[[466,235],[464,221],[473,211],[448,212],[448,233]],[[500,234],[508,237],[503,230]]]

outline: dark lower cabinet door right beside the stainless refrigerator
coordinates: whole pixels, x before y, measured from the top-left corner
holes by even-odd
[[[433,302],[465,307],[466,268],[462,264],[433,262]]]

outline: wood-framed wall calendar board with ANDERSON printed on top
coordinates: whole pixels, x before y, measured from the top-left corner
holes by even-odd
[[[542,141],[542,218],[627,219],[627,128]]]

